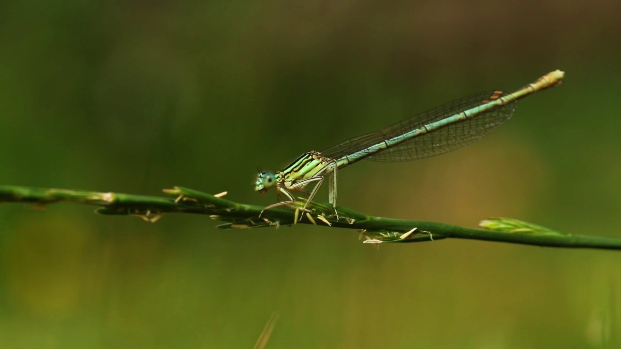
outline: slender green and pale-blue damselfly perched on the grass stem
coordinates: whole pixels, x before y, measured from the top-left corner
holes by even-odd
[[[408,161],[450,152],[483,138],[507,122],[515,112],[517,101],[537,91],[562,83],[564,72],[550,73],[512,93],[494,90],[457,99],[443,106],[408,117],[381,130],[359,135],[322,152],[311,150],[299,156],[281,171],[259,170],[255,191],[261,195],[276,189],[279,202],[266,206],[292,206],[294,192],[308,194],[302,211],[314,199],[324,180],[328,181],[328,200],[338,219],[337,173],[345,166],[363,159],[374,161]],[[310,193],[307,186],[314,184]]]

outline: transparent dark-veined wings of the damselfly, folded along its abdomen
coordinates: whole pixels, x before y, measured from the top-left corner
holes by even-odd
[[[384,140],[399,138],[407,132],[422,129],[425,125],[481,106],[501,96],[505,96],[502,91],[488,91],[457,99],[396,122],[379,131],[350,138],[321,153],[324,156],[336,159],[352,153],[363,152],[366,148],[382,143]],[[450,152],[473,143],[499,128],[513,116],[515,107],[517,107],[517,100],[514,99],[512,102],[482,112],[475,117],[446,124],[427,134],[409,138],[393,147],[379,152],[369,152],[369,155],[363,156],[363,158],[374,161],[407,161]]]

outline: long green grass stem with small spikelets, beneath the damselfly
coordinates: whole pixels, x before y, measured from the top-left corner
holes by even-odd
[[[507,218],[484,220],[480,225],[486,229],[471,229],[435,222],[373,217],[345,207],[337,207],[339,215],[337,219],[332,206],[326,202],[311,202],[309,205],[311,212],[302,212],[299,210],[301,206],[295,206],[293,209],[282,207],[270,209],[261,214],[262,206],[238,204],[193,189],[175,187],[165,189],[164,192],[173,197],[0,186],[0,202],[28,202],[35,207],[61,201],[76,202],[99,206],[95,211],[99,214],[135,215],[149,222],[155,222],[162,215],[173,212],[206,214],[212,219],[227,222],[218,225],[220,229],[278,227],[292,224],[317,224],[326,227],[331,225],[361,230],[366,237],[366,243],[467,238],[548,247],[621,249],[621,238],[566,234]]]

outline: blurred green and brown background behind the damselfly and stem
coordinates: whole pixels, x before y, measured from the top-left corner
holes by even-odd
[[[0,184],[252,204],[256,167],[548,71],[481,142],[340,173],[339,204],[619,236],[618,1],[0,4]],[[325,196],[322,197],[325,199]],[[621,255],[0,206],[1,348],[614,348]],[[616,337],[615,337],[616,336]]]

